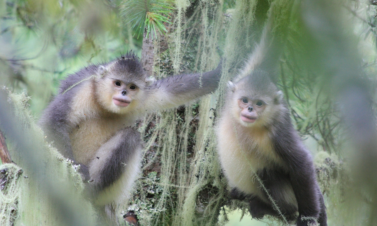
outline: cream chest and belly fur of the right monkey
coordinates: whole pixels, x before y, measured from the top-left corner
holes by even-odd
[[[259,183],[253,178],[254,170],[265,168],[271,160],[281,162],[274,153],[267,130],[253,132],[223,119],[217,131],[220,162],[231,188],[263,197]]]

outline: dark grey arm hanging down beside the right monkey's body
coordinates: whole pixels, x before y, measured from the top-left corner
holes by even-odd
[[[302,144],[290,120],[287,114],[283,122],[277,122],[277,127],[280,129],[279,132],[273,133],[272,141],[275,151],[289,169],[289,178],[299,211],[297,225],[307,226],[308,223],[314,223],[314,221],[310,219],[301,221],[301,217],[319,218],[322,194],[319,192],[311,155]]]

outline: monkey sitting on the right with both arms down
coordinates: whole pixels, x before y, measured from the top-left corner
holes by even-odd
[[[262,71],[228,86],[217,136],[231,197],[247,199],[253,218],[284,216],[300,226],[316,219],[326,226],[313,160],[293,128],[282,92]]]

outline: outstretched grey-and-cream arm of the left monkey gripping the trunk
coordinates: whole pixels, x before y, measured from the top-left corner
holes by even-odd
[[[157,80],[149,89],[149,109],[166,109],[186,104],[203,95],[214,92],[221,77],[222,64],[202,75],[183,74]]]

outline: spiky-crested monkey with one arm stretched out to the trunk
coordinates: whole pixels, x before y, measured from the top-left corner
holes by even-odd
[[[90,65],[61,81],[59,94],[40,118],[47,140],[80,165],[96,206],[122,203],[141,164],[142,140],[135,128],[146,113],[178,107],[215,91],[221,64],[202,75],[149,78],[134,53]],[[201,77],[202,84],[199,84]]]

